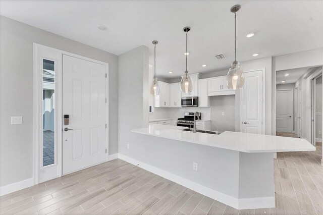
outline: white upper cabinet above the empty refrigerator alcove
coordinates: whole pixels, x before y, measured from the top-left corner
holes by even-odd
[[[227,76],[209,78],[207,81],[207,89],[208,96],[235,94],[235,90],[228,89]]]

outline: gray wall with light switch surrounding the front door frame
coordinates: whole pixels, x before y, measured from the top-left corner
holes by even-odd
[[[33,42],[109,63],[109,154],[118,152],[118,56],[0,16],[0,186],[33,177]]]

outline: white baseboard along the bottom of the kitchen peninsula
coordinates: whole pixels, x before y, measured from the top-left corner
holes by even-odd
[[[118,158],[237,209],[275,207],[275,197],[238,199],[118,153]]]

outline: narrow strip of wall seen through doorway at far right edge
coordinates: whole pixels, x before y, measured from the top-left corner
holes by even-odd
[[[316,79],[316,116],[315,116],[315,136],[322,139],[322,76]]]

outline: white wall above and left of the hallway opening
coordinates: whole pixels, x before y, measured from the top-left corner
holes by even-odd
[[[296,69],[303,67],[315,67],[323,64],[323,48],[316,48],[287,55],[273,57],[273,87],[272,105],[276,107],[276,72],[280,70]],[[273,116],[276,116],[276,108],[273,108]],[[276,135],[276,118],[272,118],[272,134]]]

